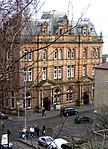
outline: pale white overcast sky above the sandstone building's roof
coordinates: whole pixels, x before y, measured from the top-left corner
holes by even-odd
[[[41,8],[43,11],[56,10],[72,16],[76,21],[83,11],[86,13],[83,17],[90,18],[94,24],[97,34],[102,31],[104,45],[103,54],[108,54],[108,2],[107,0],[43,0],[45,1]],[[70,5],[69,5],[70,4]],[[89,5],[90,4],[90,5]],[[73,9],[73,10],[72,10]]]

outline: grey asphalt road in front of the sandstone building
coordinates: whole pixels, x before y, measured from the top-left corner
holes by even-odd
[[[93,110],[90,111],[83,111],[80,112],[79,115],[88,115],[92,116],[93,115]],[[47,128],[47,135],[53,136],[53,137],[64,137],[65,139],[69,139],[70,137],[82,137],[87,135],[88,130],[91,129],[89,125],[83,125],[83,124],[74,124],[74,117],[75,116],[70,116],[66,117],[65,119],[62,118],[61,116],[56,117],[46,117],[46,118],[41,118],[40,119],[33,119],[30,120],[28,119],[27,121],[27,126],[35,126],[38,125],[39,128],[42,128],[42,125],[45,124]],[[13,121],[12,119],[5,120],[5,130],[9,129],[12,134],[10,141],[16,142],[19,136],[19,128],[24,126],[24,121]],[[62,128],[62,129],[61,129]]]

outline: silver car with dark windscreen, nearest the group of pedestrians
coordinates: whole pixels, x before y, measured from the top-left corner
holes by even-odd
[[[50,136],[41,136],[38,138],[38,144],[44,147],[48,147],[54,139]]]

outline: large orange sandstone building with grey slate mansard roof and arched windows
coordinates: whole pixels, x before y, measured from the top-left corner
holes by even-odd
[[[23,109],[25,101],[30,111],[79,105],[85,91],[93,100],[94,66],[102,63],[103,39],[89,19],[76,25],[66,15],[44,12],[22,30],[17,45],[17,88],[0,99],[2,108]]]

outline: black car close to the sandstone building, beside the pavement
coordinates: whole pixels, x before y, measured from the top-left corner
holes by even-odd
[[[61,116],[71,116],[78,114],[78,111],[74,108],[61,108],[60,115]]]

